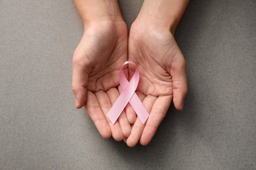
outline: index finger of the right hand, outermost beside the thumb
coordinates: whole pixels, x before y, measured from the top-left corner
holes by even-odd
[[[158,129],[158,126],[165,117],[169,105],[171,104],[171,99],[171,95],[160,96],[158,99],[156,99],[150,112],[148,121],[146,122],[146,126],[144,127],[140,137],[140,144],[146,145],[150,143],[152,137],[154,137],[156,130]]]

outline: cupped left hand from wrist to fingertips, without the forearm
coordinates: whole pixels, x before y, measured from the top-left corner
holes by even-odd
[[[119,91],[119,68],[127,61],[125,22],[97,21],[85,25],[81,42],[74,52],[72,90],[75,106],[85,106],[100,135],[116,141],[128,137],[131,126],[125,112],[116,124],[106,117]],[[127,73],[127,70],[126,70]]]

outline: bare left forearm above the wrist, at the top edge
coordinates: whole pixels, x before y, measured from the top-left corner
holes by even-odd
[[[117,0],[74,0],[83,23],[92,21],[121,21]]]

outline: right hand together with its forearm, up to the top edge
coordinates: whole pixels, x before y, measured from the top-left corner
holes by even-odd
[[[173,35],[188,1],[145,0],[131,26],[129,60],[137,63],[140,83],[137,93],[150,113],[146,124],[136,118],[128,146],[150,143],[171,104],[182,110],[188,91],[186,62]],[[135,113],[127,112],[135,117]],[[134,120],[134,118],[133,118]]]

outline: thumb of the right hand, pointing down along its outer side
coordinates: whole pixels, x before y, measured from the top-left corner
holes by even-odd
[[[173,103],[176,109],[182,110],[186,93],[188,93],[188,85],[186,81],[186,61],[181,52],[175,56],[170,74],[173,80]]]

